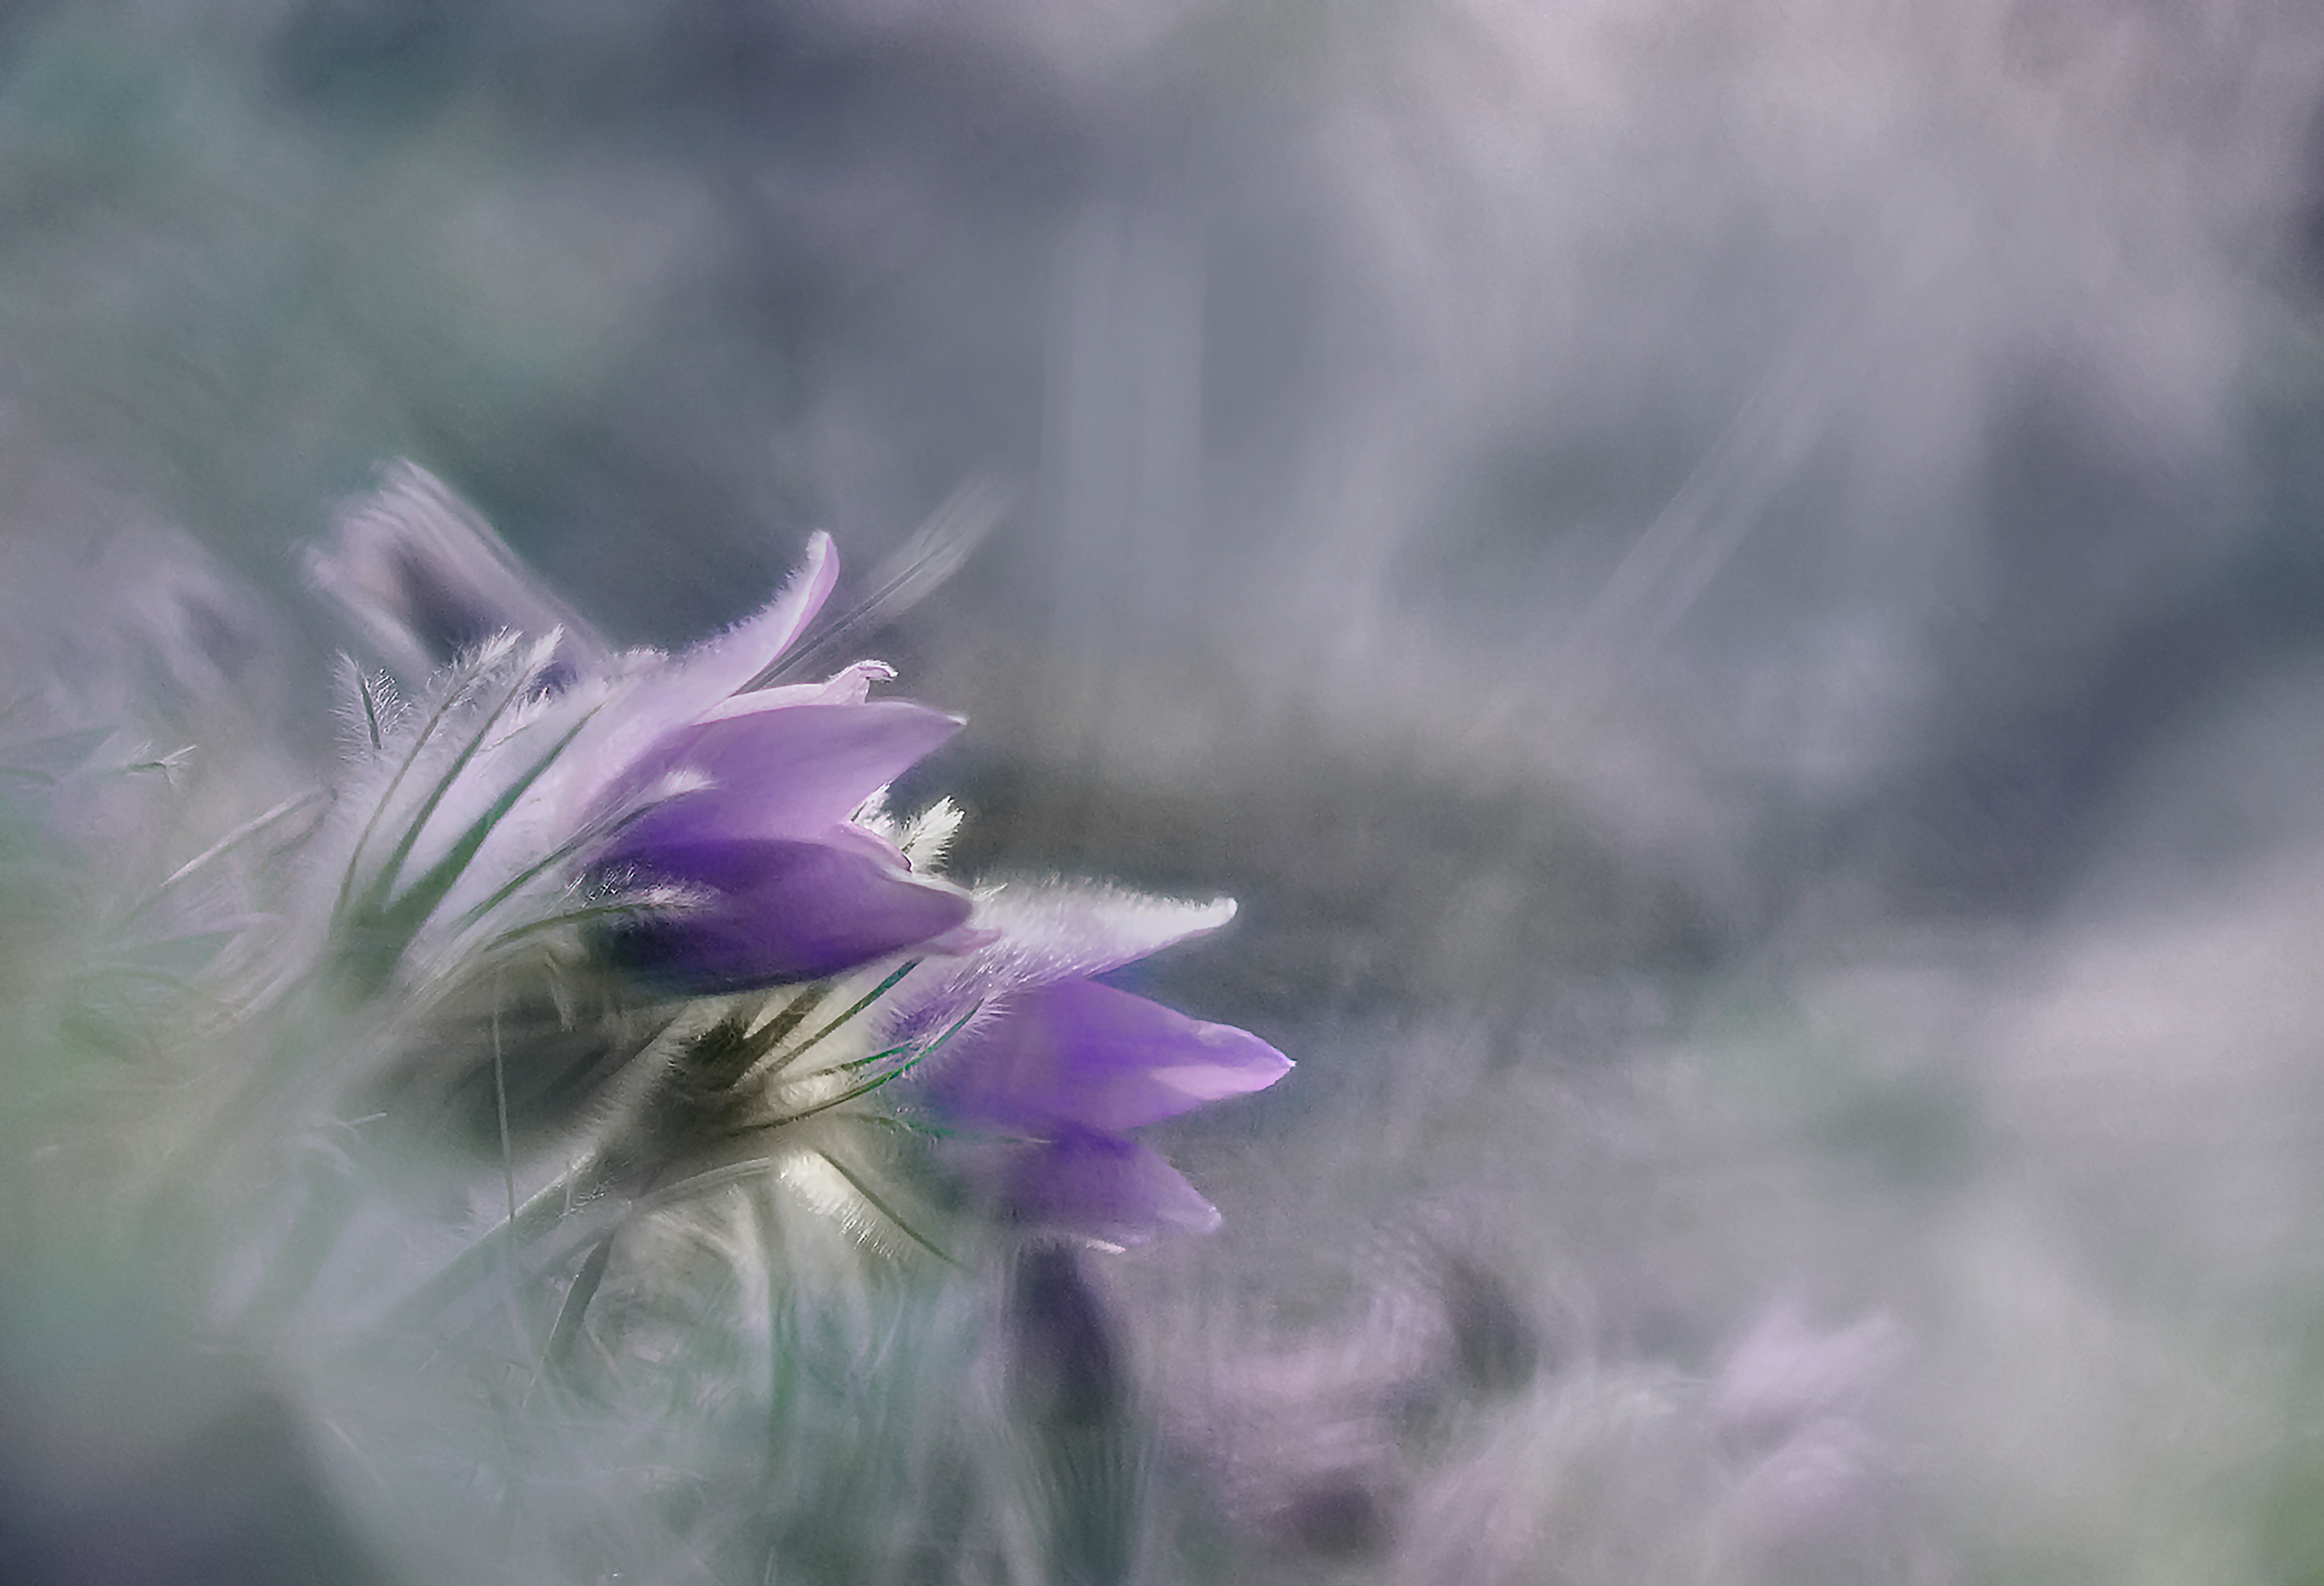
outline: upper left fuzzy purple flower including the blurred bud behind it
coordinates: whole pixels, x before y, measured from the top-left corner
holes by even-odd
[[[337,907],[374,963],[456,963],[528,909],[569,909],[574,872],[586,916],[618,919],[595,933],[607,958],[679,993],[969,942],[948,937],[971,898],[853,819],[960,719],[871,700],[895,677],[876,660],[753,686],[830,598],[830,535],[762,612],[674,658],[616,653],[409,463],[339,516],[311,574],[407,674],[442,665],[416,712],[360,681],[381,802],[349,828]]]

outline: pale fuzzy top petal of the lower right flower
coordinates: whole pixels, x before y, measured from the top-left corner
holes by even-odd
[[[1118,886],[1011,881],[976,900],[976,926],[999,940],[967,963],[923,965],[897,986],[885,1016],[897,1028],[941,1028],[978,1002],[1104,974],[1229,919],[1232,898],[1183,902]]]

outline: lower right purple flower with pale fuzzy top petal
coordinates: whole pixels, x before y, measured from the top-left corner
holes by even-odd
[[[1290,1058],[1248,1030],[1088,977],[1232,914],[1225,900],[1002,888],[978,914],[988,944],[904,981],[890,1040],[967,1021],[918,1091],[939,1116],[985,1137],[981,1177],[1006,1216],[1113,1246],[1218,1226],[1178,1170],[1125,1135],[1264,1091]]]

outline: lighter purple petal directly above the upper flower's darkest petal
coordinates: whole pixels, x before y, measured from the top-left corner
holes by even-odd
[[[695,837],[820,837],[960,726],[911,700],[739,709],[665,733],[604,791],[602,807],[688,772],[711,786],[646,812],[621,835],[623,853]]]

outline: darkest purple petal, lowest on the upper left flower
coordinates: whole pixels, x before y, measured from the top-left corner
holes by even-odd
[[[686,991],[823,979],[955,930],[971,900],[823,842],[697,840],[627,860],[641,884],[709,893],[607,935],[609,956]]]

